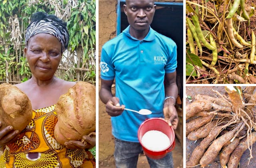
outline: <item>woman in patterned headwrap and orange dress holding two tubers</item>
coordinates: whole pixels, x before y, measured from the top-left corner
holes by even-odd
[[[66,22],[37,12],[32,15],[25,40],[24,53],[32,78],[16,86],[26,93],[36,110],[22,132],[13,130],[12,126],[0,127],[0,146],[6,146],[0,168],[95,168],[94,157],[85,150],[95,146],[95,137],[84,136],[85,144],[70,140],[63,146],[53,134],[57,122],[55,104],[75,84],[54,76],[68,46]]]

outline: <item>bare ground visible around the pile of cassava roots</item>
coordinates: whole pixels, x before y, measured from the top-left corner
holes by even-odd
[[[196,87],[186,87],[186,95],[190,95],[194,101],[194,96],[196,94],[205,94],[205,95],[210,95],[210,96],[216,96],[216,93],[212,91],[212,89],[218,91],[222,95],[226,94],[224,91],[224,87],[222,86],[215,86],[215,87],[203,87],[203,86],[196,86]],[[186,105],[190,103],[188,99],[186,99]],[[186,138],[186,161],[192,154],[192,151],[194,148],[200,144],[201,140],[191,141]],[[256,165],[256,143],[252,145],[252,158],[250,160],[250,163],[248,164],[248,160],[250,158],[250,152],[249,150],[246,150],[244,154],[242,155],[242,158],[240,160],[240,168],[255,168]],[[200,168],[200,166],[196,166],[194,168]],[[214,162],[208,165],[208,168],[221,168],[220,163],[219,163],[219,158],[217,157]]]

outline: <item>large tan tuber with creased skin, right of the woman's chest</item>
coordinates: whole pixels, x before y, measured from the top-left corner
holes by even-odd
[[[62,95],[55,107],[58,122],[54,136],[60,144],[68,140],[81,140],[96,129],[95,86],[78,82]]]

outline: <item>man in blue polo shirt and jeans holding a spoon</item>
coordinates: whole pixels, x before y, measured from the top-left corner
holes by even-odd
[[[155,10],[154,0],[126,0],[130,25],[102,47],[100,99],[111,116],[116,168],[136,168],[142,152],[137,132],[145,119],[164,117],[174,129],[178,125],[176,44],[150,28]],[[116,96],[111,92],[114,79]],[[124,107],[149,109],[152,114],[140,115]],[[151,168],[173,167],[171,152],[148,162]]]

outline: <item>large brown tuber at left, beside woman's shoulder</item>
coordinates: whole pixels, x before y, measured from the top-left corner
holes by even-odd
[[[1,128],[12,125],[22,131],[32,119],[32,106],[27,95],[18,87],[4,83],[0,85]]]

